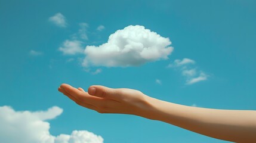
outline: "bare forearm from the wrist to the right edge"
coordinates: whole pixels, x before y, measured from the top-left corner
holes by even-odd
[[[256,111],[217,110],[145,98],[141,116],[233,142],[256,141]]]

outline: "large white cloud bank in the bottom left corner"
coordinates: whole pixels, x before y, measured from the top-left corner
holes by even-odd
[[[15,111],[8,106],[0,107],[0,142],[5,143],[103,143],[101,136],[87,130],[74,130],[71,135],[50,134],[50,123],[45,120],[54,119],[63,110],[59,107],[47,111]]]

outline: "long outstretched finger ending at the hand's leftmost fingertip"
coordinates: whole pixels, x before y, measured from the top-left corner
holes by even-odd
[[[64,89],[64,91],[66,91],[68,94],[72,95],[73,97],[75,97],[77,100],[81,102],[85,102],[87,104],[96,105],[96,106],[101,104],[102,102],[100,98],[91,96],[87,92],[80,91],[79,89],[73,88],[70,85],[62,84],[60,88]]]

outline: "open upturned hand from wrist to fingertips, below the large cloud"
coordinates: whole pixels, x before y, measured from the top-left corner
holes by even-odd
[[[147,105],[147,96],[142,92],[126,88],[107,88],[94,85],[85,92],[82,88],[73,88],[62,84],[58,91],[75,101],[76,104],[98,111],[98,113],[122,113],[141,116]]]

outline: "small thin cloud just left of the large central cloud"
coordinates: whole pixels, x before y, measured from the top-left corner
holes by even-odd
[[[64,41],[62,46],[60,46],[60,48],[58,48],[58,50],[63,52],[64,55],[75,55],[75,54],[84,52],[82,42],[77,41],[77,40],[73,40],[73,41],[66,40],[66,41]]]

